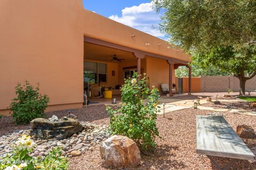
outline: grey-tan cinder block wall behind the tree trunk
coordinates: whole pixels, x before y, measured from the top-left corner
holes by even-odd
[[[225,92],[228,89],[239,91],[239,80],[230,76],[201,76],[201,92]],[[256,77],[247,80],[245,90],[256,89]]]

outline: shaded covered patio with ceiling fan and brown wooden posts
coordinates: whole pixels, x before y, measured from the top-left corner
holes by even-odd
[[[131,37],[133,38],[133,37]],[[145,44],[150,48],[150,44]],[[161,44],[158,44],[161,48]],[[172,49],[173,50],[173,49]],[[133,72],[139,74],[146,73],[149,78],[149,87],[155,86],[161,91],[161,84],[169,84],[169,89],[175,82],[175,69],[186,65],[189,69],[189,93],[191,93],[191,67],[187,61],[178,60],[182,54],[176,50],[176,58],[145,52],[108,41],[103,41],[91,37],[84,37],[84,72],[93,72],[94,78],[91,84],[98,84],[101,88],[113,90],[113,97],[119,100],[121,92],[119,87],[124,83],[124,79],[132,77]],[[94,64],[93,64],[94,63]],[[95,65],[93,70],[92,65]],[[85,78],[84,78],[84,81]],[[169,90],[173,96],[172,90]],[[103,94],[101,94],[103,96]],[[92,94],[89,95],[92,97]],[[94,95],[93,95],[94,96]],[[90,101],[108,101],[103,98],[90,98]]]

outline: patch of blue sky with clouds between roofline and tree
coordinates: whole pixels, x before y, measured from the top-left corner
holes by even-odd
[[[166,39],[163,33],[153,29],[153,26],[158,26],[160,16],[163,13],[157,14],[150,2],[150,0],[83,0],[86,10],[94,11],[150,35]]]

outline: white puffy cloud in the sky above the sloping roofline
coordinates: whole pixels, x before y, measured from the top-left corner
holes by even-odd
[[[125,7],[122,16],[111,15],[109,19],[123,23],[132,28],[149,33],[158,38],[166,39],[165,35],[153,26],[157,27],[160,22],[160,14],[152,8],[152,3],[143,3],[139,6]]]

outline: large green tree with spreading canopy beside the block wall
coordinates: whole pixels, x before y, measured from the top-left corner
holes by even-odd
[[[195,64],[233,74],[245,95],[246,80],[256,75],[256,1],[153,2],[157,11],[165,8],[160,29],[171,43],[193,54]]]

